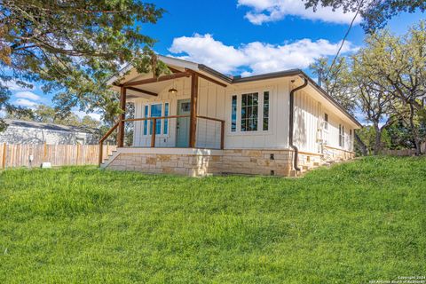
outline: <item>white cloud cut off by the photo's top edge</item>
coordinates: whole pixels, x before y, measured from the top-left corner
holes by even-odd
[[[255,25],[282,20],[286,16],[349,24],[355,15],[354,12],[343,12],[342,9],[333,11],[331,7],[322,7],[320,4],[317,11],[313,12],[312,8],[305,9],[302,0],[238,0],[238,5],[247,6],[250,9],[245,18]],[[358,16],[355,23],[359,23],[360,20]]]

